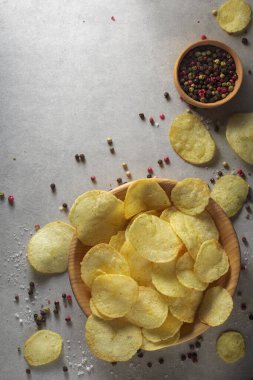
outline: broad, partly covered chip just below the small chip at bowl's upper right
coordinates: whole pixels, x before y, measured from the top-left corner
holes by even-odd
[[[177,211],[171,215],[170,223],[194,260],[204,241],[219,239],[219,232],[207,211],[198,216],[185,215]]]

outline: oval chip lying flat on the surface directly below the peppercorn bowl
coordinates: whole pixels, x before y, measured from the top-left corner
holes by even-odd
[[[191,164],[205,164],[214,157],[215,142],[196,114],[176,116],[169,138],[175,152]]]

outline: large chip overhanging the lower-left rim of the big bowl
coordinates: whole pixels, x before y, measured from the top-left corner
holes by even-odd
[[[127,361],[142,345],[141,329],[124,318],[103,321],[91,315],[85,337],[90,350],[108,362]]]

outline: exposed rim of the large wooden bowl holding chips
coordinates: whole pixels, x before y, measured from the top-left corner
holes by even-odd
[[[165,184],[166,185],[166,183],[167,183],[167,184],[170,184],[173,187],[178,182],[177,180],[170,179],[170,178],[157,178],[156,177],[155,180],[160,185],[161,184]],[[133,182],[135,182],[135,180],[127,182],[127,183],[122,184],[120,186],[117,186],[114,189],[110,190],[110,192],[112,194],[114,194],[115,196],[119,192],[126,192],[127,188],[129,187],[129,185],[131,183],[133,183]],[[228,218],[228,216],[225,214],[225,212],[222,210],[222,208],[211,198],[210,198],[210,202],[209,202],[209,204],[207,206],[207,211],[209,211],[208,210],[209,207],[212,208],[212,209],[214,208],[214,211],[218,210],[218,212],[221,214],[221,216],[223,217],[223,219],[225,218],[226,223],[228,224],[228,226],[230,228],[230,231],[231,231],[231,233],[233,235],[233,240],[234,240],[234,243],[235,243],[235,250],[236,250],[236,260],[238,260],[238,264],[239,265],[237,266],[237,270],[236,271],[233,270],[233,281],[232,281],[231,275],[230,275],[230,277],[227,280],[224,280],[227,283],[227,285],[224,286],[224,287],[227,289],[227,291],[230,293],[230,295],[233,296],[234,293],[235,293],[238,281],[239,281],[239,276],[240,276],[240,259],[241,259],[241,254],[240,254],[240,245],[239,245],[239,242],[238,242],[238,237],[237,237],[236,231],[234,229],[234,226],[233,226],[231,220]],[[216,224],[216,222],[215,222],[215,224]],[[220,231],[220,229],[218,227],[217,227],[217,229]],[[77,236],[74,235],[74,237],[72,239],[72,242],[71,242],[71,245],[70,245],[70,249],[69,249],[68,276],[69,276],[69,282],[70,282],[73,294],[75,296],[75,299],[76,299],[76,301],[77,301],[80,309],[82,310],[82,312],[85,314],[86,317],[88,317],[91,314],[89,303],[87,303],[87,299],[86,299],[86,303],[83,302],[83,293],[80,294],[80,292],[77,291],[77,287],[76,287],[76,283],[78,281],[76,280],[75,274],[76,274],[76,268],[80,268],[80,261],[79,261],[78,265],[77,265],[76,262],[74,262],[73,252],[75,252],[75,250],[76,250],[76,248],[77,248],[78,245],[79,246],[81,245],[83,247],[83,249],[85,249],[85,253],[84,254],[86,254],[86,252],[91,248],[91,247],[87,247],[87,246],[82,245],[82,243],[77,238]],[[230,268],[231,268],[231,265],[230,265]],[[79,270],[79,277],[81,277],[81,275],[80,275],[80,269],[78,269],[78,270]],[[223,277],[227,278],[228,273],[226,275],[224,275]],[[217,280],[217,281],[219,281],[219,280]],[[84,284],[82,282],[82,280],[81,280],[81,283],[82,283],[82,287],[85,288],[86,296],[89,296],[89,299],[90,299],[91,298],[90,289],[87,287],[86,284]],[[211,284],[211,286],[215,286],[215,285],[216,285],[216,282],[214,282],[214,283]],[[197,322],[197,324],[196,324],[196,322]],[[198,319],[195,319],[194,322],[191,323],[191,324],[185,324],[184,323],[184,325],[194,326],[194,329],[197,327],[197,331],[194,332],[194,334],[191,333],[191,332],[189,332],[186,336],[180,337],[179,341],[176,342],[176,343],[173,343],[171,346],[178,345],[178,344],[187,342],[187,341],[189,341],[191,339],[194,339],[194,338],[196,338],[196,336],[201,335],[202,333],[204,333],[206,330],[208,330],[211,327],[211,326],[208,326],[208,325],[200,322]]]

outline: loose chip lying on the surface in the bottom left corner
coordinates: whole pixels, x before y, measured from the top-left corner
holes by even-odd
[[[62,351],[62,337],[51,330],[34,333],[24,344],[24,358],[29,365],[39,366],[56,360]]]

